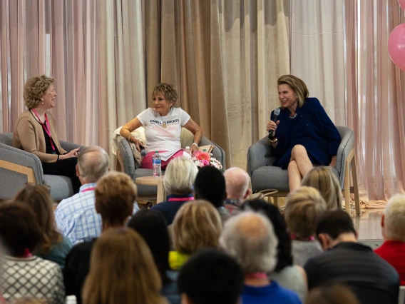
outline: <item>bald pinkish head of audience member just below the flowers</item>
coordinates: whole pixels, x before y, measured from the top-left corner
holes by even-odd
[[[224,173],[227,187],[227,198],[242,201],[250,194],[250,176],[241,168],[232,167]]]

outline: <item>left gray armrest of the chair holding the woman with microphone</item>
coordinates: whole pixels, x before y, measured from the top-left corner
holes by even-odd
[[[275,160],[274,150],[266,136],[257,143],[253,143],[247,150],[247,172],[252,176],[257,168],[272,166]]]

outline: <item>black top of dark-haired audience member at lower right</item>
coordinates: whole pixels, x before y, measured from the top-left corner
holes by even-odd
[[[368,246],[339,243],[307,261],[308,288],[335,283],[352,288],[362,304],[398,303],[399,275]]]

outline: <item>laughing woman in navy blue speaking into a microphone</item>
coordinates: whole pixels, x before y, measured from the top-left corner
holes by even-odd
[[[274,122],[274,111],[266,130],[277,159],[273,166],[288,169],[289,191],[299,187],[302,176],[313,166],[335,166],[339,131],[319,100],[308,97],[307,85],[298,77],[281,76],[278,81],[281,111]]]

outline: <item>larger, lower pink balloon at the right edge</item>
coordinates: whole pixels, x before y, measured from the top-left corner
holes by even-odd
[[[388,39],[388,52],[391,60],[405,71],[405,24],[399,24]]]

